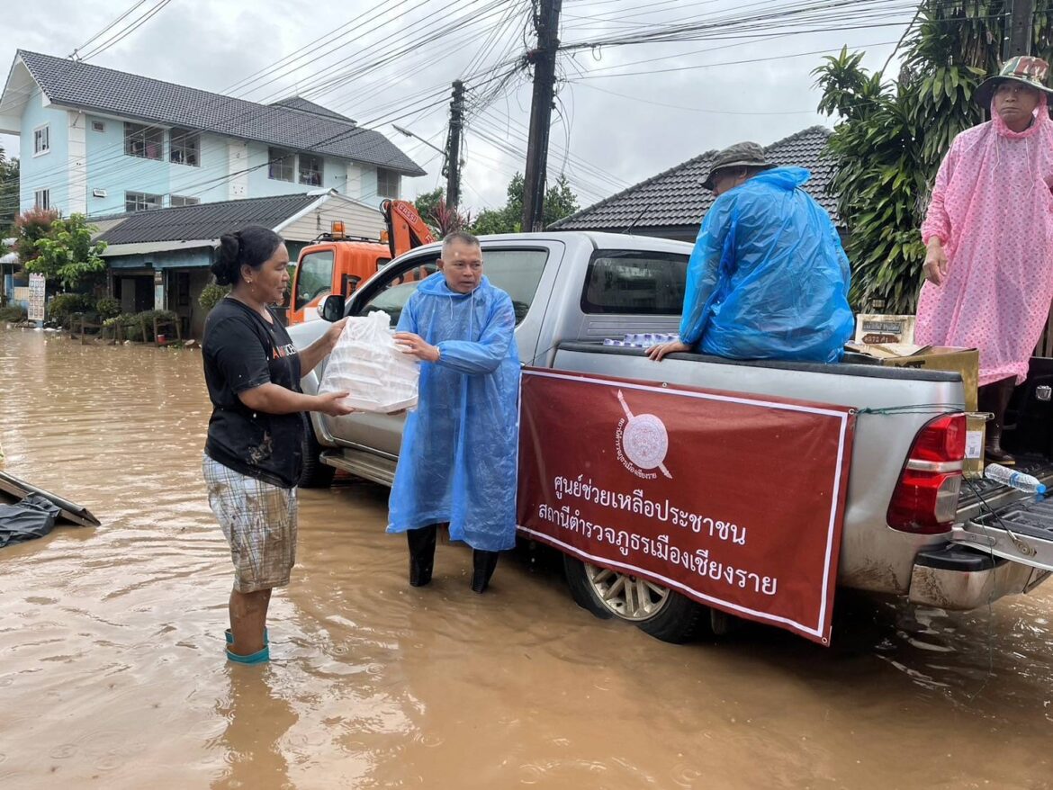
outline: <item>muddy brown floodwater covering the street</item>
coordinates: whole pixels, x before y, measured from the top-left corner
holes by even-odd
[[[198,352],[0,330],[4,469],[88,507],[0,550],[0,788],[1053,787],[1053,582],[991,611],[841,597],[830,650],[675,647],[548,561],[405,584],[386,491],[301,492],[270,666],[232,667]],[[543,557],[542,557],[543,559]]]

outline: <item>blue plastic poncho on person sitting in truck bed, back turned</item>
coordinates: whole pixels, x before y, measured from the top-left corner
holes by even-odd
[[[830,217],[775,167],[726,192],[688,263],[680,339],[732,359],[837,362],[852,337],[849,261]]]

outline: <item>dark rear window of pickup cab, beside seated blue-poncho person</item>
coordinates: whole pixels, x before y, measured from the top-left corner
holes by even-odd
[[[581,310],[678,316],[687,279],[687,255],[598,250],[589,263]]]

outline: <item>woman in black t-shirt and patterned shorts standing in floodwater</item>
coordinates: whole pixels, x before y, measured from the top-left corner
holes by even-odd
[[[289,584],[296,561],[296,482],[304,412],[353,410],[347,393],[304,395],[301,376],[333,350],[344,321],[297,350],[269,305],[282,300],[289,252],[259,225],[220,239],[212,271],[234,288],[204,325],[204,378],[212,399],[203,471],[208,503],[231,545],[234,591],[226,655],[239,664],[270,659],[271,590]]]

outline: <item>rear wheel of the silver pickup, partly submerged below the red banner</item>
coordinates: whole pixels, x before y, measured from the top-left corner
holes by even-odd
[[[709,607],[660,585],[597,568],[569,554],[563,555],[563,571],[574,601],[602,619],[617,617],[676,645],[709,626]]]

